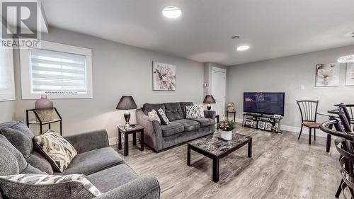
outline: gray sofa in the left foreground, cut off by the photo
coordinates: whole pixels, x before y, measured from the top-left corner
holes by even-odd
[[[8,129],[6,130],[6,127],[16,129],[21,133],[11,134]],[[24,123],[20,121],[2,123],[0,124],[0,134],[3,141],[10,142],[18,152],[21,152],[23,155],[21,159],[25,159],[23,161],[27,165],[25,169],[18,171],[18,166],[16,166],[18,162],[8,161],[11,154],[1,152],[0,176],[33,173],[84,174],[103,193],[96,198],[159,198],[159,181],[153,176],[140,177],[130,166],[125,164],[120,154],[109,147],[108,135],[105,130],[65,137],[74,146],[78,155],[62,173],[53,171],[50,163],[33,147],[34,135]],[[6,147],[1,146],[1,143],[5,142],[0,142],[0,149]],[[30,194],[33,194],[33,197],[29,198],[37,198],[40,195],[40,193],[23,193],[23,195]],[[2,198],[1,194],[0,198]]]

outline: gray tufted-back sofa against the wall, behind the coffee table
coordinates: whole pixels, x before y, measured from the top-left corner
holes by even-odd
[[[205,118],[186,119],[185,107],[192,102],[145,103],[137,109],[137,124],[144,127],[144,142],[156,152],[215,132],[215,111],[205,110]],[[147,115],[162,108],[169,118],[169,125],[161,125]]]

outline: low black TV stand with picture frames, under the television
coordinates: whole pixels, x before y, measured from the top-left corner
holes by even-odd
[[[263,115],[261,113],[244,113],[244,120],[242,126],[256,128],[259,130],[266,130],[270,132],[282,132],[280,129],[280,118],[275,117],[274,115]]]

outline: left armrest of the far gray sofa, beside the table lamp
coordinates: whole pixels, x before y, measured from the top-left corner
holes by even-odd
[[[144,127],[144,142],[159,151],[157,142],[161,142],[158,137],[162,137],[161,125],[157,120],[149,118],[141,109],[135,112],[137,115],[137,124]]]

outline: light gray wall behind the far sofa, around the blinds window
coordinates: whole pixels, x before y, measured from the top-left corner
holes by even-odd
[[[116,127],[124,124],[124,111],[115,110],[122,95],[132,95],[138,107],[144,103],[193,101],[202,103],[204,67],[200,62],[161,55],[138,47],[51,28],[42,40],[92,49],[93,99],[53,100],[63,118],[64,135],[104,128],[116,137]],[[16,81],[20,82],[18,52],[15,55]],[[152,91],[152,61],[176,65],[176,91]],[[25,120],[25,109],[34,100],[21,100],[21,84],[16,84],[16,118]],[[135,123],[132,111],[131,123]]]

